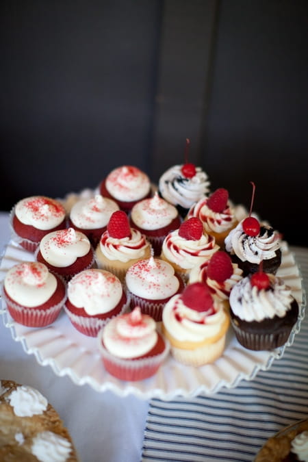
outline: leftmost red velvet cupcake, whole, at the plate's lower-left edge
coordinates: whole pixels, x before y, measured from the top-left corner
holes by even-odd
[[[52,324],[66,300],[62,278],[37,261],[24,261],[10,268],[2,292],[14,321],[29,327]]]

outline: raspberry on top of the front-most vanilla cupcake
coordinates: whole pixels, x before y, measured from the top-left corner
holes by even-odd
[[[202,282],[192,283],[186,285],[183,293],[181,294],[183,304],[195,311],[210,311],[214,313],[213,298],[207,284]]]

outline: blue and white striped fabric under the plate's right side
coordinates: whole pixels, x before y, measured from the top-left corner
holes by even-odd
[[[308,293],[308,249],[292,251]],[[282,359],[253,381],[190,400],[151,400],[142,462],[253,461],[268,437],[308,418],[307,362],[308,316]]]

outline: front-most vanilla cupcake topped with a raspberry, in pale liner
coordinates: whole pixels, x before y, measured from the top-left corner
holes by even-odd
[[[229,317],[212,298],[209,287],[197,282],[166,303],[162,326],[172,356],[183,364],[199,366],[222,355]]]

